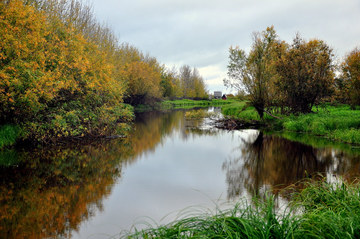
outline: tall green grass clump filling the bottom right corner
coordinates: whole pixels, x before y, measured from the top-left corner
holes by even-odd
[[[293,203],[304,238],[360,238],[360,187],[343,178],[303,183]]]

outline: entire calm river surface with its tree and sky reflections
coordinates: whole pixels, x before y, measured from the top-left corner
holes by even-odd
[[[138,113],[129,138],[0,152],[0,238],[117,238],[134,220],[149,221],[141,216],[159,222],[212,199],[261,195],[305,171],[360,172],[360,150],[351,145],[196,127],[185,111]]]

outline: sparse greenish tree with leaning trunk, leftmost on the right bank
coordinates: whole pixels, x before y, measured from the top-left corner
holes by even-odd
[[[269,94],[275,77],[273,64],[278,39],[274,26],[253,32],[251,37],[253,43],[248,54],[239,46],[230,46],[229,79],[224,79],[224,85],[247,95],[250,105],[263,118],[264,112],[270,114],[265,109],[270,106]]]

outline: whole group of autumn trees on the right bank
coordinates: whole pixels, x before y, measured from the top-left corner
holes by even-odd
[[[336,64],[333,47],[317,38],[305,40],[297,33],[290,44],[273,26],[251,37],[248,53],[230,46],[224,85],[246,96],[261,118],[264,113],[306,114],[320,102],[360,106],[359,47]]]

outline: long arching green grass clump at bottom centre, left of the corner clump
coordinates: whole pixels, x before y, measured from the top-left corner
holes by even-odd
[[[216,208],[215,212],[190,208],[181,217],[168,225],[127,233],[123,238],[293,238],[299,222],[287,211],[281,213],[273,197],[267,197],[265,203],[254,200],[252,206],[243,200],[229,210]]]

